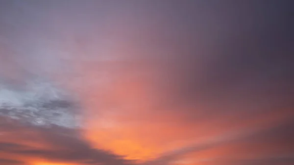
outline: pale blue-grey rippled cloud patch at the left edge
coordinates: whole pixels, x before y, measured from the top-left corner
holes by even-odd
[[[0,83],[0,116],[38,126],[81,126],[78,102],[52,82],[33,78],[23,86]]]

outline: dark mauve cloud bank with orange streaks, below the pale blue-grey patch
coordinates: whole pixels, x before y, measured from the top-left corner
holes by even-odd
[[[78,136],[76,130],[69,130],[68,128],[26,128],[39,137],[37,144],[44,144],[46,147],[38,147],[29,144],[32,141],[25,141],[27,144],[21,144],[17,142],[21,140],[21,136],[24,134],[21,130],[14,133],[19,138],[13,136],[15,142],[1,142],[0,150],[3,154],[12,155],[14,158],[21,160],[25,159],[44,159],[53,162],[65,162],[65,163],[84,163],[87,162],[91,165],[130,165],[130,161],[124,160],[122,156],[112,154],[109,151],[93,148],[87,141],[81,139]],[[62,132],[59,132],[59,130]],[[67,134],[67,132],[75,132],[75,134]],[[12,134],[12,133],[11,133]],[[5,136],[1,136],[1,141]],[[8,135],[6,135],[8,136]],[[36,138],[36,137],[34,137]],[[4,160],[3,160],[4,161]],[[17,163],[17,161],[15,161]],[[6,162],[5,162],[6,163]],[[7,165],[9,161],[7,160]],[[12,165],[14,162],[11,162]],[[6,165],[6,164],[5,164]],[[9,164],[10,165],[10,164]]]

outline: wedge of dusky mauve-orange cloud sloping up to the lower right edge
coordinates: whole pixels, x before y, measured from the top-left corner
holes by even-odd
[[[189,155],[188,159],[192,157],[192,162],[199,162],[204,165],[206,165],[206,162],[209,165],[210,163],[214,165],[215,162],[216,165],[222,165],[222,163],[233,165],[255,165],[258,163],[275,165],[280,163],[288,165],[294,162],[293,129],[293,117],[280,118],[279,121],[274,123],[268,122],[263,126],[261,124],[256,125],[255,128],[243,128],[235,132],[224,133],[221,136],[212,137],[196,144],[190,142],[188,146],[163,153],[162,156],[145,164],[170,165],[178,160],[185,160],[185,157]],[[258,148],[254,145],[257,145]],[[207,157],[210,152],[214,153],[213,156]],[[240,160],[242,155],[248,155],[247,159]],[[267,158],[269,155],[272,158]],[[264,159],[264,157],[266,158]]]

